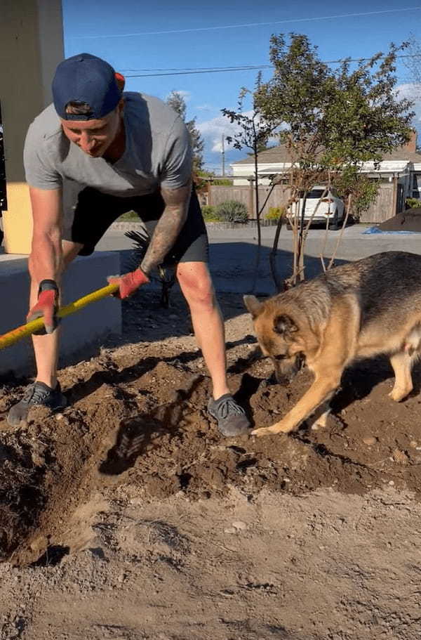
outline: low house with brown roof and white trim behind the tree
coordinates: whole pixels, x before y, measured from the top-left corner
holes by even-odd
[[[406,198],[421,197],[421,153],[417,152],[416,146],[417,135],[414,131],[406,145],[385,155],[378,166],[373,162],[363,163],[361,172],[368,174],[373,180],[379,180],[380,190],[377,201],[361,215],[362,222],[385,221],[405,209]],[[233,162],[231,166],[234,188],[253,187],[252,156]],[[290,159],[285,145],[260,152],[258,155],[259,185],[262,185],[262,188],[267,187],[270,184],[269,176],[286,173],[289,168]],[[265,190],[262,189],[263,191]],[[271,204],[278,206],[273,199]]]

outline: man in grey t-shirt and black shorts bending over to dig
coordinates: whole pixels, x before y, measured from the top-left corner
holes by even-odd
[[[64,60],[53,79],[53,105],[29,126],[24,162],[34,231],[27,320],[44,317],[46,334],[33,337],[36,381],[11,407],[8,422],[19,424],[32,405],[65,407],[55,318],[62,271],[75,256],[90,255],[112,222],[134,210],[151,241],[139,268],[114,278],[118,296],[147,284],[157,265],[177,265],[213,382],[208,411],[225,436],[245,433],[248,419],[227,386],[224,325],[208,271],[206,226],[192,191],[189,133],[158,98],[122,93],[121,79],[94,55]]]

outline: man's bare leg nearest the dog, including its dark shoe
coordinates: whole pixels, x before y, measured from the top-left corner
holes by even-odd
[[[212,379],[213,400],[210,400],[208,410],[225,436],[246,433],[250,423],[232,398],[227,383],[224,322],[208,266],[205,262],[179,263],[177,277],[192,314],[196,341]]]

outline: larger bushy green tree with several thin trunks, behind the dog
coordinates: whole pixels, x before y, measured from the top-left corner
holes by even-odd
[[[361,163],[380,162],[410,138],[411,103],[399,99],[395,91],[396,55],[404,46],[392,44],[385,55],[377,53],[354,67],[351,60],[343,60],[333,70],[319,59],[307,36],[290,34],[289,41],[283,34],[271,38],[274,75],[260,84],[255,103],[267,122],[279,126],[290,156],[292,284],[305,277],[304,247],[311,221],[305,227],[303,213],[312,186],[340,185],[349,215],[353,202],[355,212],[357,202],[367,203],[377,195],[373,183],[361,176]]]

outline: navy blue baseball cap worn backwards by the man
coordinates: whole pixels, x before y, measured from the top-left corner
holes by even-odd
[[[63,120],[96,120],[115,109],[121,100],[114,69],[91,53],[79,53],[63,60],[52,84],[55,110]],[[86,115],[66,113],[69,102],[88,103]]]

